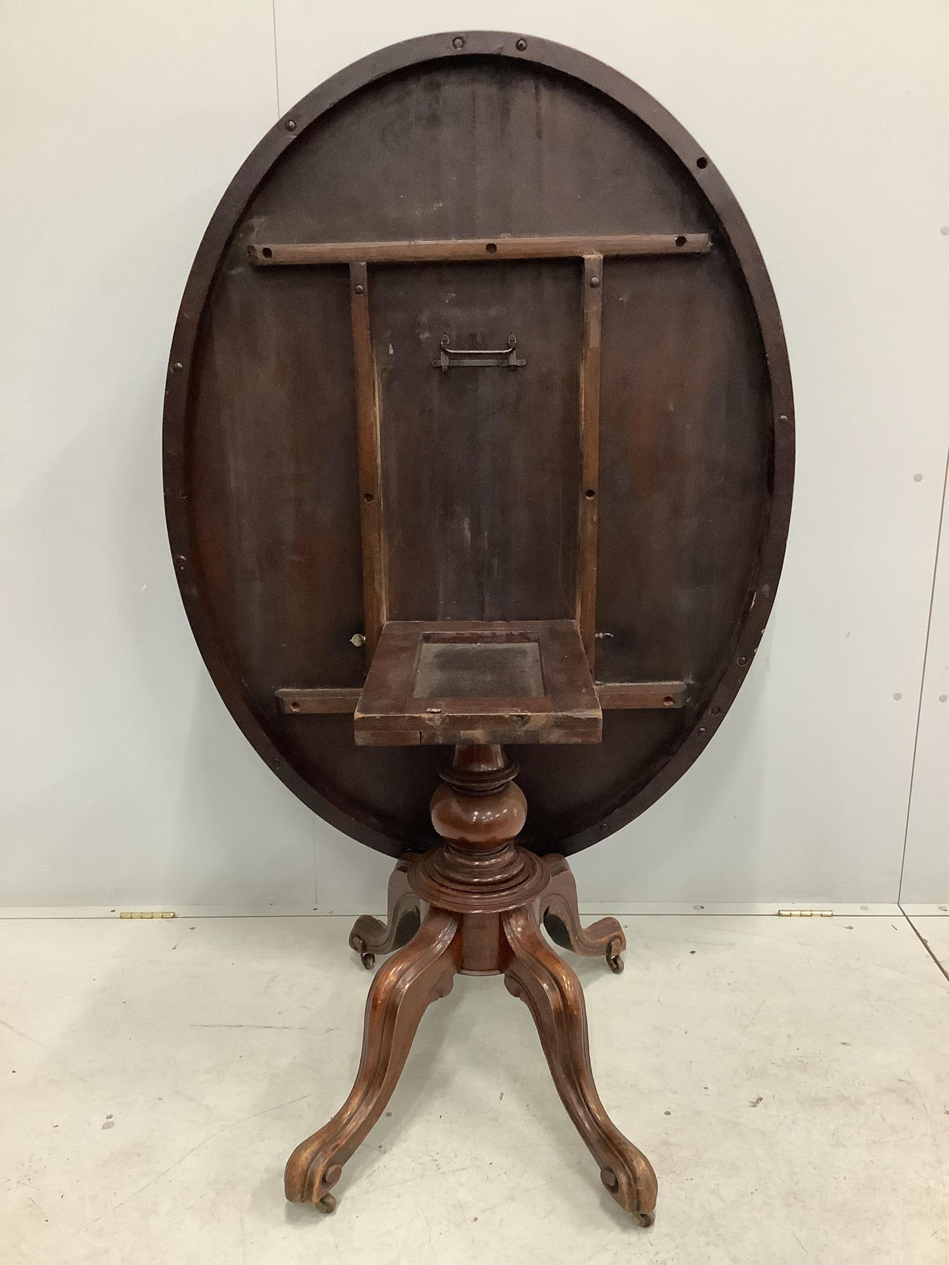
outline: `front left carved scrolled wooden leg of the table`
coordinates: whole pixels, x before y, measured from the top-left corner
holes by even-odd
[[[452,989],[461,961],[459,923],[457,913],[429,910],[411,942],[380,968],[366,999],[356,1084],[333,1120],[287,1160],[283,1189],[292,1203],[311,1200],[325,1212],[335,1208],[329,1190],[385,1111],[421,1016]]]

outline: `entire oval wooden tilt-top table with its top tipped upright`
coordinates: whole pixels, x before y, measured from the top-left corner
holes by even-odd
[[[580,982],[540,929],[623,969],[619,922],[581,926],[567,856],[667,791],[741,684],[792,416],[728,186],[572,49],[383,49],[232,182],[168,367],[178,583],[259,755],[397,861],[386,922],[349,937],[367,969],[392,955],[356,1084],[290,1156],[288,1199],[335,1208],[426,1007],[500,974],[604,1187],[652,1223],[655,1175],[604,1111]]]

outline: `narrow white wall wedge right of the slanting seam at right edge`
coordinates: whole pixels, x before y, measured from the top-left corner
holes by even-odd
[[[943,507],[900,899],[949,904],[949,522]]]

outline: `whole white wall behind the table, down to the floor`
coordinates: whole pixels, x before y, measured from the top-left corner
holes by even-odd
[[[573,44],[657,96],[741,202],[791,353],[767,636],[707,753],[577,858],[582,897],[893,902],[902,875],[905,901],[946,901],[944,0],[8,0],[0,904],[380,907],[391,863],[272,777],[205,674],[162,392],[247,152],[328,75],[447,20]]]

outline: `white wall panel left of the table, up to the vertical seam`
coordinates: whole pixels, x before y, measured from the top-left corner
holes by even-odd
[[[161,486],[185,278],[277,116],[271,3],[8,5],[0,57],[0,903],[310,899],[310,815],[208,679]]]

